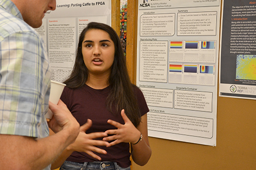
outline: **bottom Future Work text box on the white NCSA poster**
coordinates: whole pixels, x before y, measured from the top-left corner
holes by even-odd
[[[148,131],[212,138],[214,119],[164,113],[147,113]]]

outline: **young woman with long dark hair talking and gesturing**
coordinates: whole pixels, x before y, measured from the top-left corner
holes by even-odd
[[[66,160],[60,169],[130,169],[131,155],[138,165],[147,163],[149,110],[130,81],[119,37],[110,26],[91,22],[81,32],[74,69],[64,83],[61,100],[81,127],[52,168]]]

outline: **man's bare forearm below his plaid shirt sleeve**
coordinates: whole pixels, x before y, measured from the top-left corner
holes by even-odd
[[[1,134],[0,167],[1,169],[43,169],[73,141],[65,130],[42,139]]]

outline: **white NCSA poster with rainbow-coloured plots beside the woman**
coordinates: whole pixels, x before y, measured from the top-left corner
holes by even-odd
[[[137,86],[151,137],[216,146],[220,1],[138,1]]]

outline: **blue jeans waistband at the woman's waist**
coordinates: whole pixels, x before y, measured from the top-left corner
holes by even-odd
[[[71,162],[65,161],[59,170],[131,170],[131,167],[120,167],[116,162]]]

